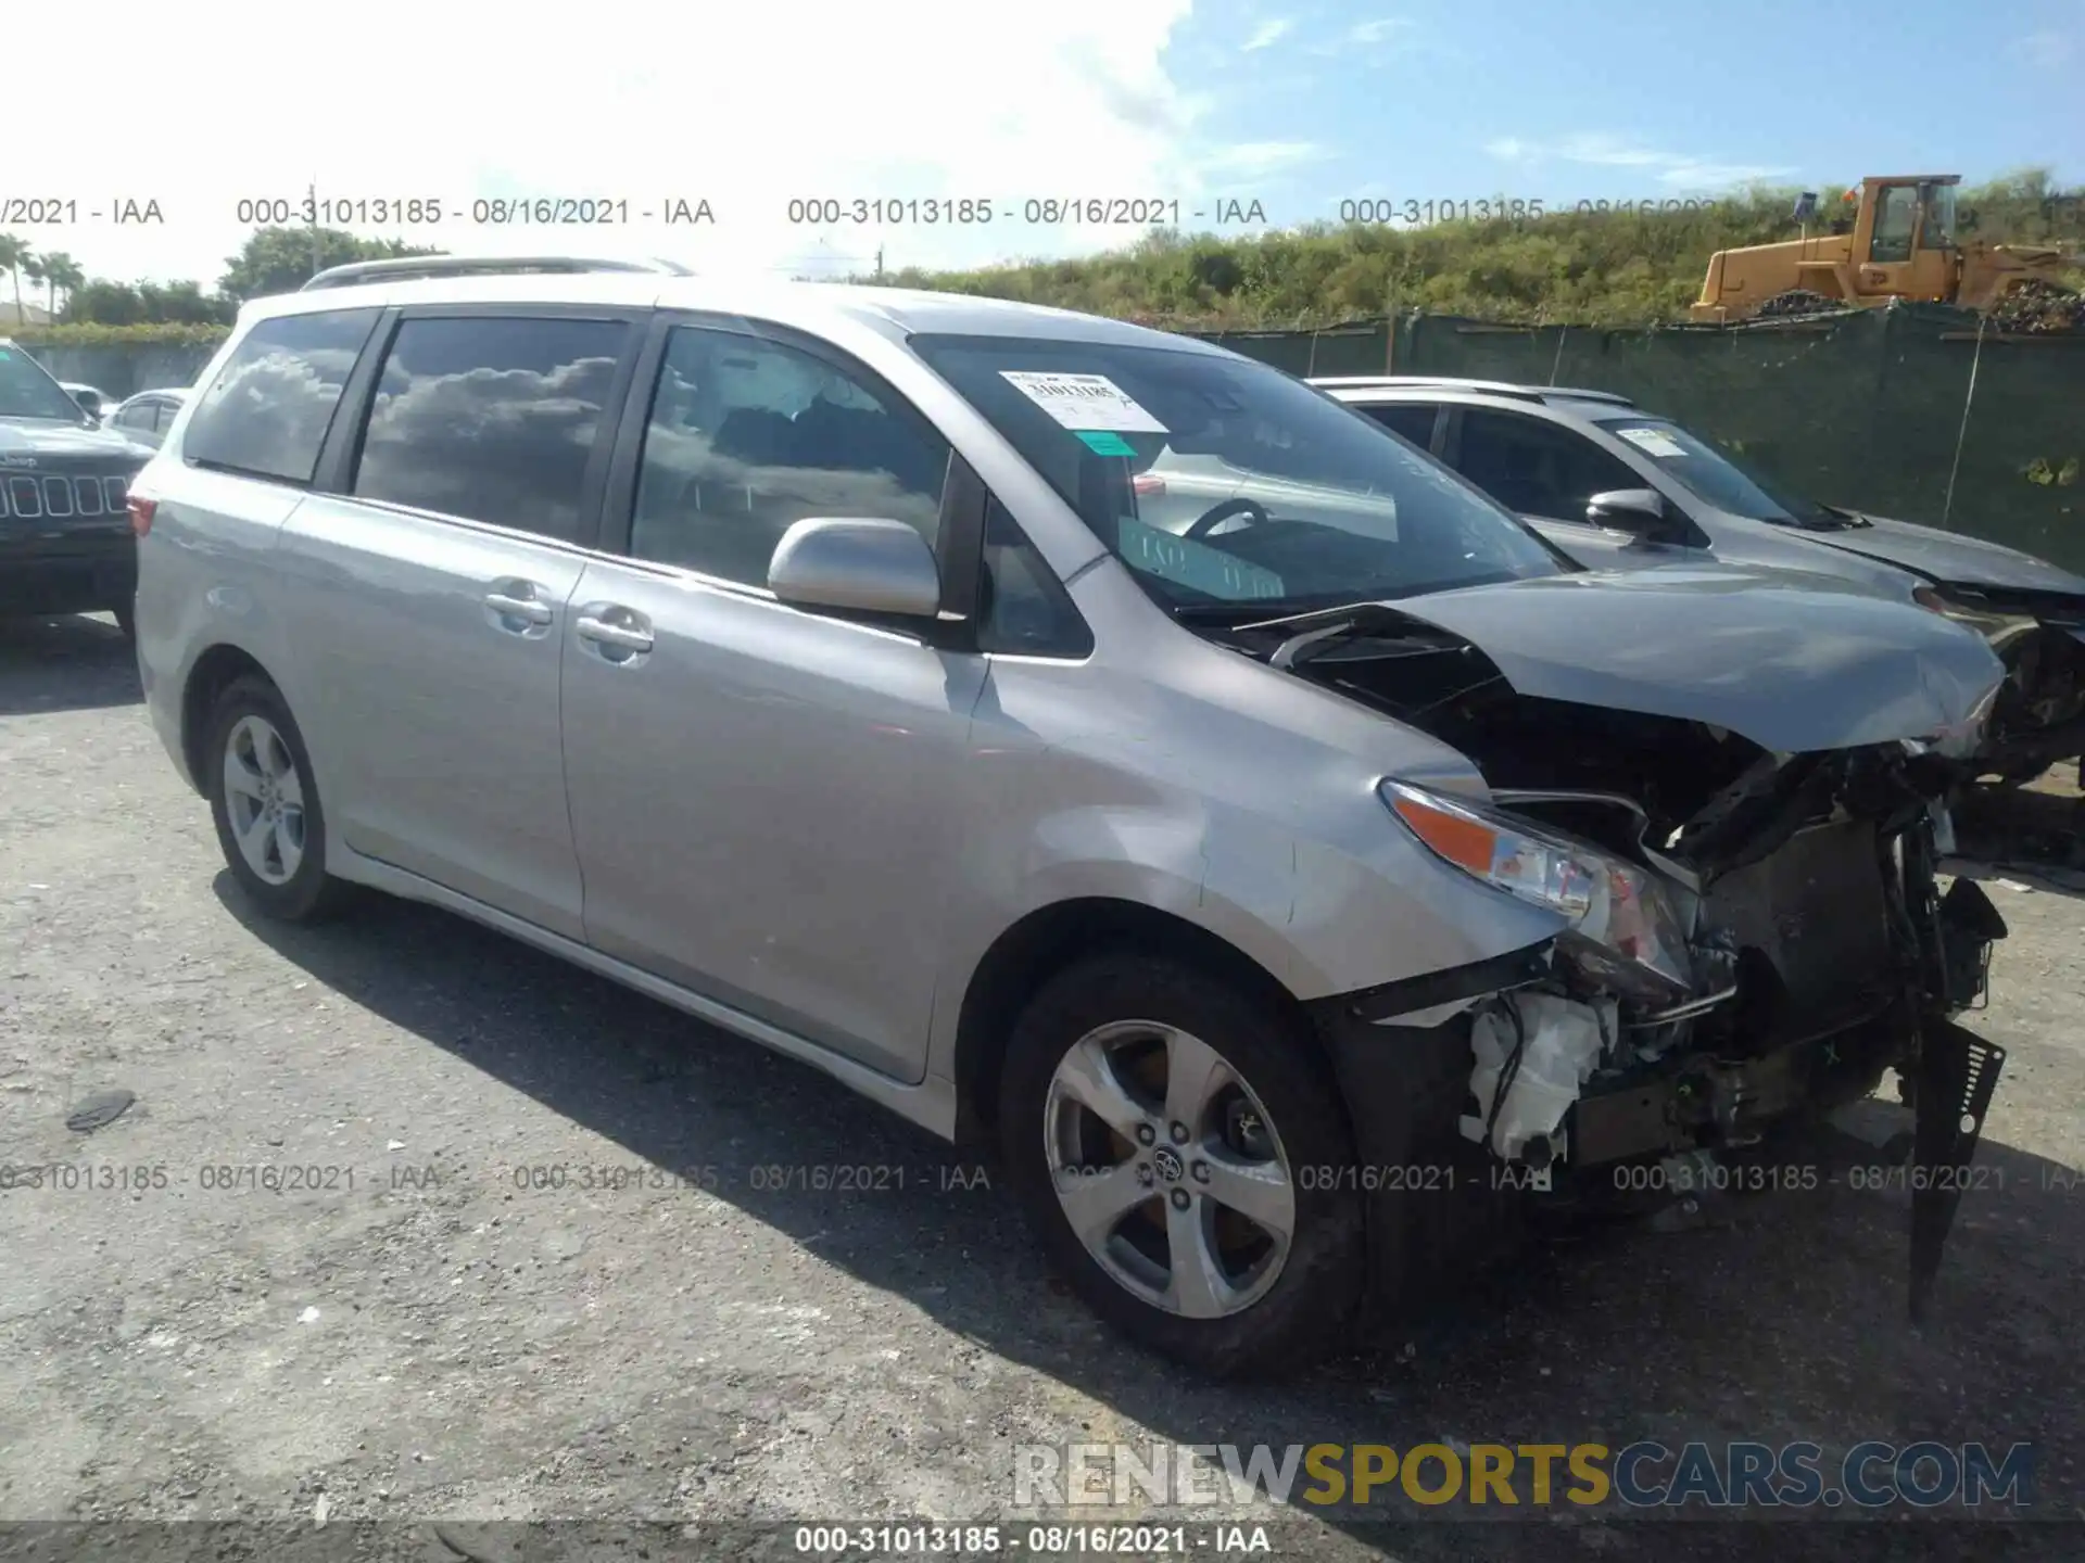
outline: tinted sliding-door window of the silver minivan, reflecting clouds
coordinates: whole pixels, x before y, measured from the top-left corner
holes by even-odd
[[[352,492],[573,540],[621,321],[407,319],[377,379]]]

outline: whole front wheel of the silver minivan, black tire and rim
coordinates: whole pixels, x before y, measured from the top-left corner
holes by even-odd
[[[1303,1025],[1178,961],[1042,986],[1001,1082],[1007,1175],[1074,1290],[1216,1378],[1341,1344],[1366,1273],[1353,1136]]]

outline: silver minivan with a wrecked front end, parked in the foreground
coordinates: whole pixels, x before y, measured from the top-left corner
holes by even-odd
[[[1161,452],[1234,488],[1153,525]],[[1887,1069],[1918,1159],[1972,1155],[2004,925],[1937,861],[1983,640],[1578,569],[1220,348],[363,265],[240,313],[131,523],[152,721],[263,911],[434,902],[982,1136],[1205,1371]]]

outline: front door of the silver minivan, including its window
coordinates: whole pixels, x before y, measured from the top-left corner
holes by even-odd
[[[899,1080],[926,1073],[984,659],[782,606],[813,515],[934,542],[947,442],[869,371],[759,327],[659,346],[628,559],[565,646],[586,938]]]

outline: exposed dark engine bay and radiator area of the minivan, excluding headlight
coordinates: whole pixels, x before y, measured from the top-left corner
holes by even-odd
[[[1539,859],[1551,879],[1593,882],[1585,915],[1510,979],[1376,1017],[1468,1023],[1464,1140],[1530,1188],[1587,1169],[1612,1184],[1622,1163],[1756,1144],[1895,1069],[1914,1157],[1964,1165],[2004,1055],[1952,1017],[1983,1000],[2006,927],[1972,879],[1943,894],[1937,865],[1981,734],[1770,752],[1701,721],[1522,694],[1422,613],[1364,604],[1218,638],[1451,744],[1491,790],[1470,832],[1503,829],[1512,871]],[[1384,796],[1457,861],[1457,821],[1439,840],[1432,823],[1453,804],[1397,782]],[[1532,827],[1524,844],[1512,821]],[[1914,1184],[1931,1192],[1914,1196],[1914,1317],[1960,1182]]]

